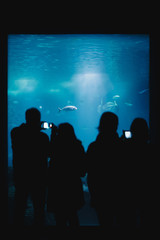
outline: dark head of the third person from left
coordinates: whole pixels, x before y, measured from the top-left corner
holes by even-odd
[[[115,134],[118,127],[118,117],[112,112],[104,112],[100,118],[99,133]]]

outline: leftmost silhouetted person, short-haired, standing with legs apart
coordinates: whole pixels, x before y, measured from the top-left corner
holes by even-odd
[[[26,123],[11,131],[15,181],[15,224],[24,224],[28,196],[34,207],[34,224],[44,224],[49,138],[41,132],[36,108],[25,113]]]

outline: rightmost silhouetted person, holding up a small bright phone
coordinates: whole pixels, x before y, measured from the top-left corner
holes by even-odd
[[[146,227],[147,219],[149,219],[147,212],[149,214],[150,187],[152,186],[149,128],[146,120],[135,118],[130,131],[132,137],[126,140],[130,168],[128,176],[130,195],[126,213],[129,214],[128,222],[130,224]]]

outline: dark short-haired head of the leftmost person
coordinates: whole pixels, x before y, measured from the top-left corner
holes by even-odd
[[[37,108],[29,108],[25,113],[26,124],[33,129],[40,129],[41,113]]]

